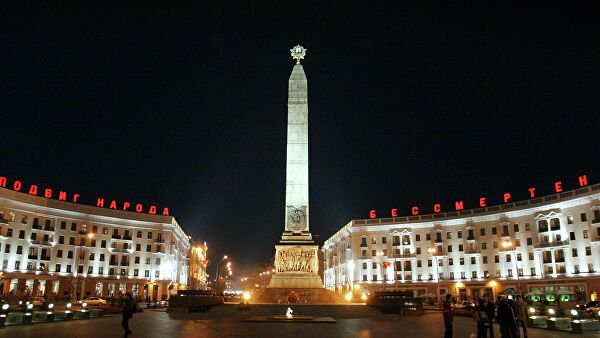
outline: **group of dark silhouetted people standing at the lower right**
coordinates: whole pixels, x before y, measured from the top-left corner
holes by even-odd
[[[446,295],[446,301],[442,305],[444,315],[445,338],[452,337],[453,304],[452,296]],[[494,318],[500,324],[501,338],[520,338],[521,328],[523,337],[527,338],[527,306],[517,295],[515,300],[498,297],[496,303],[487,297],[479,299],[473,311],[473,319],[477,322],[477,338],[486,338],[490,332],[490,338],[494,338]]]

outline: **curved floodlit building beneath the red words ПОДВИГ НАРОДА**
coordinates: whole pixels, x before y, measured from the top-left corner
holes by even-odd
[[[188,284],[190,240],[172,216],[0,188],[0,292],[160,300]]]

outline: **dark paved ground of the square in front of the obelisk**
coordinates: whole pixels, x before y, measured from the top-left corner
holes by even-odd
[[[130,320],[130,337],[443,337],[444,324],[439,312],[420,316],[380,314],[367,306],[327,308],[322,306],[291,306],[295,314],[312,312],[330,314],[336,323],[255,323],[242,319],[256,314],[280,311],[281,307],[257,306],[251,313],[242,313],[234,305],[217,306],[210,311],[190,314],[169,314],[161,310],[144,310]],[[278,314],[283,314],[279,313]],[[354,314],[354,315],[353,315]],[[122,337],[121,316],[68,322],[40,323],[0,328],[2,337]],[[495,337],[500,330],[495,326]],[[475,322],[469,317],[454,318],[454,337],[469,337],[476,333]],[[577,337],[567,332],[529,329],[530,338]],[[580,335],[583,337],[584,335]],[[600,337],[600,334],[585,337]]]

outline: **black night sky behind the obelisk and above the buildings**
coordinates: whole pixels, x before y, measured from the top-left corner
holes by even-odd
[[[600,181],[598,5],[363,5],[3,8],[0,176],[168,206],[213,261],[268,262],[300,43],[318,242]]]

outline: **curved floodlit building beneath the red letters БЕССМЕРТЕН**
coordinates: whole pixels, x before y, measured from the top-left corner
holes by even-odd
[[[480,209],[353,220],[325,241],[324,286],[337,292],[506,288],[600,293],[600,184]]]

